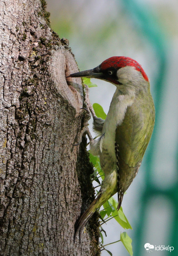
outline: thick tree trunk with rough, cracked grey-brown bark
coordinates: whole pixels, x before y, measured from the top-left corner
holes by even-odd
[[[44,0],[0,0],[0,255],[99,255],[97,216],[73,243],[93,199],[78,67],[49,27]]]

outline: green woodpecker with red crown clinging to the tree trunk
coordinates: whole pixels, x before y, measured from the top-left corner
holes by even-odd
[[[89,218],[116,192],[119,210],[124,192],[137,175],[150,141],[155,108],[148,77],[131,58],[111,57],[92,70],[69,77],[98,78],[116,86],[106,120],[93,118],[93,128],[100,136],[90,141],[90,152],[100,157],[105,179],[97,198],[76,222],[75,238],[78,231],[81,238]]]

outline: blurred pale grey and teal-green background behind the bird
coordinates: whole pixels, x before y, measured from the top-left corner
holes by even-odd
[[[47,0],[47,11],[51,28],[69,40],[81,71],[112,56],[127,56],[138,61],[150,78],[156,108],[154,133],[122,203],[133,230],[122,229],[115,220],[107,222],[105,244],[119,240],[120,232],[126,231],[133,240],[133,255],[170,254],[146,251],[144,245],[150,243],[173,246],[171,255],[177,256],[178,1]],[[90,100],[102,105],[107,114],[116,88],[92,81],[98,87],[90,88]],[[121,242],[106,249],[113,256],[129,255]],[[108,255],[102,251],[102,256]]]

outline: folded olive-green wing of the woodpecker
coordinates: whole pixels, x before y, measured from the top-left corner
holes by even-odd
[[[148,95],[147,95],[148,97]],[[127,108],[121,125],[116,128],[115,150],[118,172],[118,199],[137,175],[144,153],[150,141],[155,120],[154,103],[144,99],[140,92],[136,101]],[[121,202],[118,202],[120,208]]]

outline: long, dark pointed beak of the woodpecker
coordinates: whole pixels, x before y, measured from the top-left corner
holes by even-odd
[[[99,66],[90,70],[85,70],[81,72],[77,72],[71,75],[68,75],[68,77],[89,77],[89,78],[102,78],[102,72],[100,71]]]

